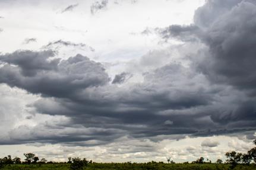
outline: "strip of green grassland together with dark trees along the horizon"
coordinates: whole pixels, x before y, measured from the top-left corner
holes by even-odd
[[[254,140],[254,144],[256,145],[256,140]],[[235,151],[227,152],[226,154],[226,162],[223,163],[221,159],[217,159],[216,163],[211,163],[209,159],[205,159],[203,157],[198,158],[196,161],[192,161],[191,163],[175,163],[170,160],[170,157],[167,158],[168,163],[163,162],[147,162],[147,163],[96,163],[92,161],[87,161],[86,158],[68,158],[68,162],[66,163],[58,163],[58,162],[47,162],[45,158],[39,159],[33,153],[24,153],[26,159],[24,162],[21,162],[21,159],[15,157],[11,158],[11,155],[5,156],[0,159],[0,169],[1,170],[96,170],[96,169],[104,169],[104,170],[119,170],[119,169],[136,169],[136,170],[164,170],[164,169],[198,169],[198,170],[211,170],[211,169],[255,169],[256,170],[256,147],[248,150],[247,153],[237,153]],[[254,163],[253,163],[254,162]]]

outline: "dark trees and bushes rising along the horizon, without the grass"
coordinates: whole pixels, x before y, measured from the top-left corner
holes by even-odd
[[[256,145],[256,140],[253,141],[254,144]],[[4,158],[0,158],[0,169],[4,168],[4,166],[12,165],[12,164],[27,164],[27,165],[39,165],[41,166],[42,164],[46,163],[58,163],[58,162],[48,162],[45,158],[39,159],[38,156],[34,155],[34,153],[24,153],[24,156],[26,159],[24,161],[21,161],[20,158],[15,157],[11,158],[11,155],[5,156]],[[217,164],[229,164],[230,168],[235,168],[236,165],[242,164],[242,165],[250,165],[251,163],[254,162],[256,163],[256,147],[253,147],[252,149],[248,150],[247,153],[238,153],[235,151],[232,152],[227,152],[225,154],[226,156],[226,162],[223,162],[222,159],[217,159],[215,163]],[[168,163],[175,164],[174,161],[170,160],[170,157],[167,158]],[[67,163],[69,165],[69,169],[71,170],[79,170],[83,169],[85,166],[88,166],[89,164],[92,165],[92,161],[87,161],[86,158],[81,159],[81,158],[68,158],[67,162],[61,162],[61,163]],[[131,165],[131,162],[127,162],[128,165]],[[162,164],[163,162],[148,162],[150,165],[154,164]],[[148,165],[147,163],[147,165]],[[184,162],[189,163],[189,162]],[[197,163],[197,164],[202,164],[202,163],[212,163],[209,159],[204,159],[203,157],[198,158],[196,161],[192,161],[191,163]]]

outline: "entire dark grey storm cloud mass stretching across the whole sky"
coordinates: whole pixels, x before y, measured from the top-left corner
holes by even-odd
[[[93,10],[105,8],[108,1],[102,2],[95,2]],[[38,134],[28,127],[14,129],[10,140],[2,143],[102,145],[124,136],[158,140],[157,136],[164,135],[211,136],[255,130],[255,3],[221,2],[207,1],[195,12],[192,25],[157,30],[164,39],[202,45],[200,52],[189,56],[188,66],[165,63],[144,72],[143,82],[132,85],[116,85],[129,78],[126,72],[111,83],[101,63],[80,54],[67,60],[55,59],[52,50],[2,54],[0,83],[40,94],[42,98],[29,105],[37,113],[70,118],[56,127],[41,124],[38,129],[46,130]],[[55,46],[84,44],[59,40],[45,48]],[[214,147],[217,143],[201,145]]]

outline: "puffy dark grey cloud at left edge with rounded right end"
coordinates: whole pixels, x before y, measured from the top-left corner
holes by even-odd
[[[77,54],[67,60],[52,59],[52,51],[18,51],[0,56],[0,82],[50,97],[72,95],[79,89],[109,81],[100,63]],[[14,66],[15,65],[15,66]]]

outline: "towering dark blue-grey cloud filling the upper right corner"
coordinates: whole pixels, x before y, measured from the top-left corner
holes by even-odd
[[[198,61],[198,69],[213,82],[254,91],[255,11],[254,1],[207,1],[195,12],[195,25],[170,25],[161,34],[201,40],[209,54]]]

